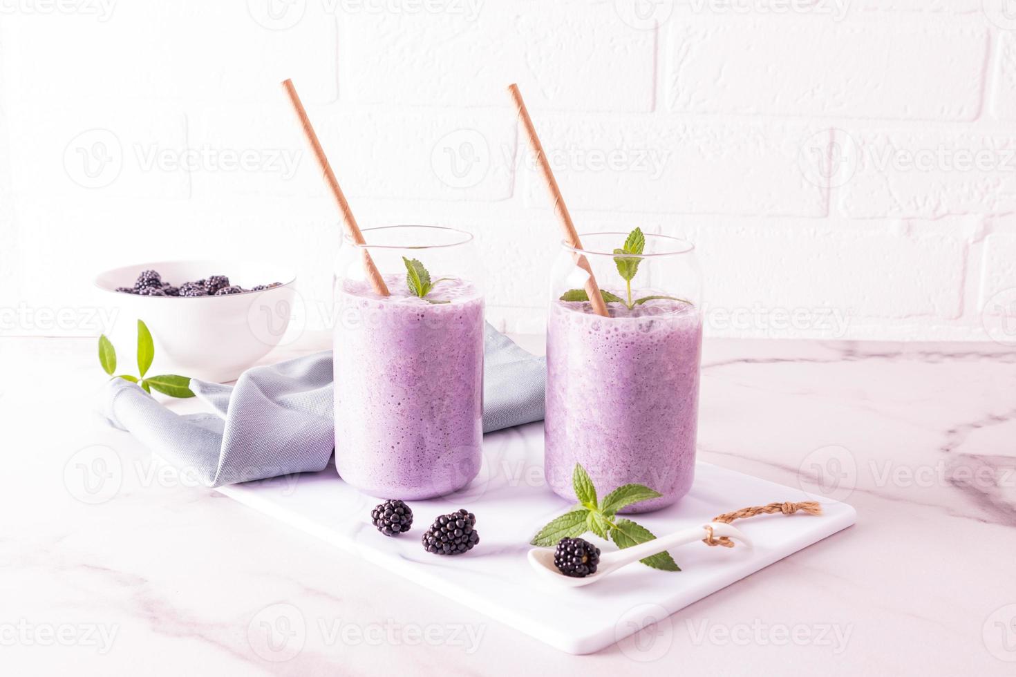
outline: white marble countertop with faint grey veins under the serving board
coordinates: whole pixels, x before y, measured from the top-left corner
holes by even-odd
[[[91,413],[92,339],[0,339],[0,674],[1013,674],[1016,350],[707,340],[703,368],[700,458],[821,474],[858,524],[575,657],[152,463]],[[276,605],[287,661],[249,641]]]

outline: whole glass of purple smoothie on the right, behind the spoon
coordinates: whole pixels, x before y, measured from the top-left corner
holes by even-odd
[[[580,238],[610,317],[594,313],[578,252],[562,243],[547,326],[547,481],[575,500],[579,463],[605,494],[628,483],[663,494],[622,513],[665,507],[695,477],[702,276],[694,247],[638,228]]]

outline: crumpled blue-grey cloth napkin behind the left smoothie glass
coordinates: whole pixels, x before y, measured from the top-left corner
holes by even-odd
[[[544,417],[546,360],[487,325],[484,335],[484,432]],[[192,380],[214,413],[173,413],[136,385],[114,379],[100,412],[152,453],[221,486],[323,470],[334,446],[331,351],[241,375],[236,386]]]

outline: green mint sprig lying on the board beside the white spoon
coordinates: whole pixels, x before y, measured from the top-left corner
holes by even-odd
[[[580,464],[575,464],[572,472],[572,488],[579,504],[561,517],[551,520],[529,541],[532,545],[550,547],[562,538],[575,538],[591,531],[604,540],[611,539],[621,549],[630,548],[656,538],[651,531],[631,520],[617,519],[623,507],[662,494],[642,484],[624,484],[596,500],[596,487],[589,473]],[[646,566],[663,571],[680,571],[681,567],[666,551],[640,559]]]

